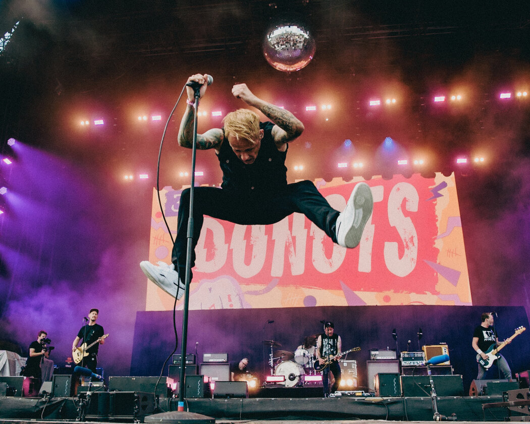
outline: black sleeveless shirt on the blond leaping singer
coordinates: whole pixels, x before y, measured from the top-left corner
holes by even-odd
[[[271,130],[272,122],[260,122],[263,129],[260,149],[256,160],[244,164],[238,158],[225,137],[217,158],[223,171],[221,187],[239,195],[252,193],[277,193],[287,187],[287,167],[285,158],[287,150],[280,152],[274,143]]]

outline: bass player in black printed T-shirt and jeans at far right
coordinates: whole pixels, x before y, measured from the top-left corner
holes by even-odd
[[[496,348],[501,344],[501,342],[499,342],[499,339],[497,338],[497,335],[495,334],[494,328],[492,326],[493,315],[489,312],[485,312],[480,317],[482,323],[475,328],[471,345],[473,346],[473,349],[475,349],[475,352],[482,357],[482,359],[488,360],[489,356],[485,352],[487,352],[488,349],[490,349],[490,347],[492,346],[493,348]],[[505,340],[506,344],[510,342],[510,339]],[[508,365],[508,362],[506,361],[504,356],[500,355],[499,353],[497,353],[497,356],[499,357],[499,359],[495,360],[497,367],[499,368],[500,372],[504,374],[504,378],[506,378],[508,381],[512,381],[511,370]],[[486,372],[487,369],[479,363],[479,374],[476,376],[476,379],[481,380],[482,378],[484,378]]]

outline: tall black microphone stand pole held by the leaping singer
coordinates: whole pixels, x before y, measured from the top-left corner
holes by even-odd
[[[193,143],[191,146],[191,187],[190,187],[190,216],[188,218],[188,245],[186,251],[186,271],[185,271],[185,289],[184,305],[182,310],[182,341],[180,350],[180,382],[179,382],[179,405],[178,411],[184,411],[184,378],[185,378],[185,357],[188,337],[188,308],[190,301],[190,275],[191,275],[191,255],[193,250],[193,194],[195,193],[195,158],[197,154],[197,110],[199,109],[200,86],[195,86],[195,120],[193,121]],[[179,279],[180,279],[180,269]]]

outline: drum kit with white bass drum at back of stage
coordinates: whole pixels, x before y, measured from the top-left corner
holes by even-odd
[[[290,352],[288,350],[275,350],[281,348],[281,344],[275,340],[264,340],[263,343],[270,346],[270,375],[285,377],[285,381],[278,382],[278,384],[285,385],[285,387],[303,386],[304,376],[315,374],[313,368],[316,361],[314,347],[305,349],[303,346],[299,346],[294,352]]]

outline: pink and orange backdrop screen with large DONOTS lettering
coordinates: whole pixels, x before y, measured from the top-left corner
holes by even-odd
[[[343,210],[356,182],[315,185]],[[301,214],[253,226],[205,217],[190,308],[471,305],[454,176],[396,175],[367,183],[374,213],[356,249],[334,244]],[[172,231],[180,193],[161,191]],[[170,263],[171,241],[156,192],[151,221],[149,260]],[[172,306],[171,296],[147,283],[147,311]]]

